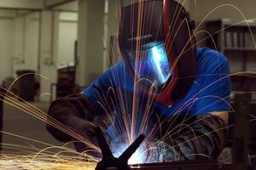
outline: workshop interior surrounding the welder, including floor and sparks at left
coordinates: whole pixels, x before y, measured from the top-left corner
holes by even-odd
[[[145,169],[256,169],[256,1],[176,1],[195,20],[196,46],[218,50],[229,61],[228,134],[216,160],[157,162]],[[0,169],[95,168],[99,160],[76,160],[73,143],[49,133],[47,111],[55,99],[81,93],[122,60],[120,11],[137,2],[0,0]]]

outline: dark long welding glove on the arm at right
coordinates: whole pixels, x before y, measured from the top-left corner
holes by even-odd
[[[148,144],[147,162],[216,159],[226,140],[228,129],[224,126],[224,121],[218,116],[198,116],[196,122],[172,142],[170,139]]]

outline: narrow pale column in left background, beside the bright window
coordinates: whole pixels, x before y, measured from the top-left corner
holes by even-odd
[[[58,20],[58,13],[52,11],[42,11],[40,14],[40,30],[39,30],[39,73],[48,77],[49,80],[41,78],[40,94],[50,93],[50,84],[56,82],[57,56],[55,54],[55,47],[57,44],[55,39],[58,35],[57,27],[55,26]],[[49,101],[50,95],[45,94],[40,98],[43,101]]]

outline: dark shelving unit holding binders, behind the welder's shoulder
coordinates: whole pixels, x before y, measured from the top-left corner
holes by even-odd
[[[231,77],[235,85],[232,90],[254,88],[256,91],[256,20],[210,20],[206,27],[212,35],[207,37],[207,47],[220,51],[230,60],[231,73],[243,72]]]

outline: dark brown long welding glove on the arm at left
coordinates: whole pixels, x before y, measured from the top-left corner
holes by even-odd
[[[90,108],[90,104],[84,98],[83,94],[72,94],[65,98],[56,99],[49,106],[48,122],[50,123],[49,117],[74,129],[88,139],[94,136],[93,127],[99,124],[103,127],[108,127],[106,117],[96,116],[96,113]],[[47,129],[55,139],[61,140],[62,142],[75,140],[67,133],[49,125],[49,123],[47,124]]]

